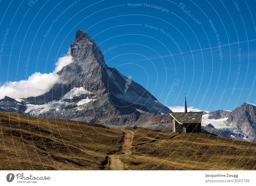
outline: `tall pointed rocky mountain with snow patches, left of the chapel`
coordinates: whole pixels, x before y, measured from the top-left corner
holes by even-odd
[[[140,121],[153,126],[151,119],[156,115],[162,118],[172,112],[141,85],[108,67],[97,44],[82,29],[76,32],[67,55],[73,62],[57,72],[60,82],[49,92],[27,99],[4,98],[0,109],[112,127],[140,126]]]

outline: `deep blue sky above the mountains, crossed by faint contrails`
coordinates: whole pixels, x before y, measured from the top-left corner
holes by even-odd
[[[255,1],[24,0],[0,5],[1,85],[26,79],[26,69],[28,75],[51,73],[82,28],[105,51],[108,66],[131,75],[161,103],[170,89],[169,106],[184,105],[184,93],[188,106],[208,111],[255,103]],[[179,83],[172,86],[175,79]]]

